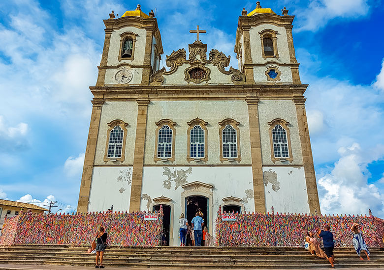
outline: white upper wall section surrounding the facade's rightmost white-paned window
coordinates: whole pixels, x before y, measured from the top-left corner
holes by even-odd
[[[266,164],[303,164],[301,142],[297,123],[296,107],[291,100],[260,100],[258,103],[258,117],[260,126],[261,153],[263,165]],[[271,141],[269,138],[268,122],[281,118],[289,122],[290,143],[292,148],[292,162],[272,162]]]

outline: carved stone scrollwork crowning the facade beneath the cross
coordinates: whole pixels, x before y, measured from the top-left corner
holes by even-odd
[[[224,69],[229,65],[230,56],[226,56],[223,52],[219,52],[218,50],[212,49],[211,52],[209,52],[209,59],[207,59],[207,44],[203,44],[200,41],[195,41],[193,42],[193,44],[189,44],[189,51],[190,54],[188,60],[187,52],[184,49],[179,49],[176,52],[173,51],[169,56],[167,55],[165,63],[168,67],[170,67],[170,70],[166,71],[165,68],[162,68],[156,71],[150,76],[150,84],[155,86],[161,85],[164,83],[164,76],[168,76],[175,73],[179,66],[185,63],[190,64],[191,67],[188,68],[188,71],[190,71],[192,68],[196,67],[194,64],[197,62],[201,64],[200,67],[202,68],[202,70],[204,70],[203,66],[205,66],[205,64],[212,64],[213,66],[216,66],[221,73],[225,75],[232,74],[231,81],[234,84],[242,84],[245,82],[245,74],[242,73],[240,70],[234,69],[232,67],[229,68],[229,71],[226,71]],[[205,67],[205,69],[208,68]],[[200,70],[195,70],[194,73],[199,74],[199,71]],[[184,73],[186,74],[187,71],[185,70]],[[195,79],[193,80],[191,78],[193,78],[193,76],[187,76],[186,74],[186,81],[199,83],[201,81],[208,81],[209,79],[207,80],[207,78],[209,78],[209,74],[205,74],[203,76],[203,79],[201,80],[199,77],[195,77]]]

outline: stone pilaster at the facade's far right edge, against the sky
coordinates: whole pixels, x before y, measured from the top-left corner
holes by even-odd
[[[320,202],[318,186],[316,184],[315,167],[313,164],[311,141],[309,138],[307,114],[305,112],[305,99],[293,98],[296,106],[297,122],[299,126],[299,136],[301,142],[301,151],[303,155],[305,181],[307,184],[308,204],[311,214],[320,214]]]

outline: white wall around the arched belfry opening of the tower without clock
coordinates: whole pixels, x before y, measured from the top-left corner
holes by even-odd
[[[265,29],[271,29],[277,31],[277,52],[279,54],[279,58],[266,58],[262,57],[261,52],[261,40],[260,34]],[[251,55],[254,63],[265,63],[270,61],[271,59],[279,62],[279,63],[289,63],[289,49],[288,49],[288,39],[287,39],[287,30],[284,27],[278,27],[270,24],[262,24],[256,27],[251,27],[249,30],[250,41],[251,41]]]

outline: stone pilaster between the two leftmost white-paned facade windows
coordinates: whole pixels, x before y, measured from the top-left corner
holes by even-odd
[[[136,139],[135,150],[133,156],[132,169],[132,187],[130,191],[129,212],[140,211],[141,202],[141,186],[143,180],[143,163],[144,163],[144,148],[145,134],[147,127],[147,110],[149,99],[137,99],[137,124],[136,124]]]

